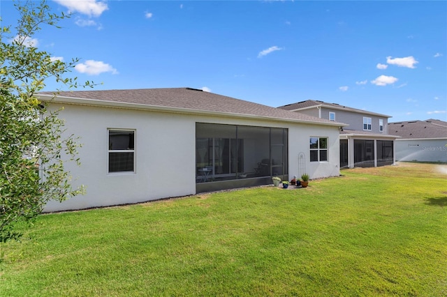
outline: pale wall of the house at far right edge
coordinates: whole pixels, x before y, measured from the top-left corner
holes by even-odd
[[[447,162],[447,139],[396,139],[397,161]]]

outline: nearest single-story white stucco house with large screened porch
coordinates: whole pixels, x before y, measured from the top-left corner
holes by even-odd
[[[137,203],[198,192],[339,175],[344,124],[189,88],[40,93],[80,137],[87,194],[45,211]],[[319,146],[309,146],[318,140]],[[324,162],[311,162],[317,153]],[[323,160],[323,159],[322,159]],[[290,176],[290,177],[289,177]]]

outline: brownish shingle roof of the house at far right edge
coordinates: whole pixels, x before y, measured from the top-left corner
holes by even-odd
[[[402,139],[447,138],[447,122],[429,119],[388,123],[388,134]]]

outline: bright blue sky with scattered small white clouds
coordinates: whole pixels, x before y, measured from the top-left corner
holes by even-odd
[[[447,1],[47,3],[73,15],[29,44],[79,58],[69,76],[96,90],[191,87],[271,107],[312,99],[390,122],[447,121]],[[2,26],[17,24],[13,4],[1,1]]]

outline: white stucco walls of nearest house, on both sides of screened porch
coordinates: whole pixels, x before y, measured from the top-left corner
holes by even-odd
[[[52,108],[61,105],[52,104]],[[85,185],[86,194],[45,211],[131,204],[196,192],[196,122],[288,128],[288,172],[298,175],[298,153],[305,153],[305,172],[311,178],[339,175],[337,127],[234,119],[190,114],[168,114],[135,109],[64,105],[60,113],[67,133],[80,136],[80,167],[71,163],[73,185]],[[108,173],[108,129],[135,130],[135,173]],[[328,162],[309,162],[309,137],[328,137]]]

